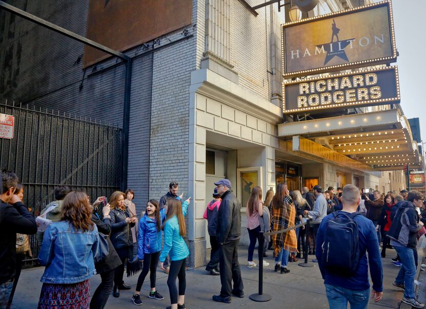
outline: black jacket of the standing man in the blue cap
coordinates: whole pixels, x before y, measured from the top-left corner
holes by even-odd
[[[232,190],[222,195],[222,201],[218,210],[218,225],[216,238],[224,244],[226,240],[236,240],[241,237],[241,204]]]

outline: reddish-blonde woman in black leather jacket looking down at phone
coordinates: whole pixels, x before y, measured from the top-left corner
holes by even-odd
[[[125,194],[115,191],[109,198],[111,212],[111,242],[120,257],[122,264],[114,271],[114,287],[112,295],[120,297],[119,290],[130,290],[131,287],[124,284],[124,263],[133,256],[133,239],[130,228],[136,222],[136,215],[131,215],[124,204]]]

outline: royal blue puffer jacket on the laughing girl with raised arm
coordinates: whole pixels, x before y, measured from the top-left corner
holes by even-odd
[[[160,222],[166,218],[166,209],[160,210]],[[139,221],[138,258],[144,259],[145,254],[156,253],[161,250],[161,230],[157,231],[157,220],[145,215]]]

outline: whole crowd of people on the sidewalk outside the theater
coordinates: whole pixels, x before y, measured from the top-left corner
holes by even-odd
[[[39,245],[38,262],[45,266],[38,308],[104,308],[111,294],[118,298],[121,290],[131,290],[123,280],[125,268],[127,274],[140,271],[131,298],[135,305],[143,303],[141,289],[148,273],[147,298],[164,300],[156,288],[158,266],[168,274],[169,307],[185,308],[189,250],[184,241],[184,217],[190,198],[178,196],[177,182],[170,182],[169,191],[159,201],[147,201],[140,217],[132,190],[116,191],[109,199],[101,196],[91,203],[84,192],[58,186],[54,201],[37,220],[23,204],[24,188],[16,175],[3,170],[2,184],[0,308],[12,303],[22,260],[31,255],[28,235],[33,234]],[[206,271],[220,276],[221,290],[212,300],[230,303],[232,297],[244,297],[238,262],[241,204],[228,179],[215,182],[215,186],[204,212],[211,244]],[[317,185],[312,191],[303,188],[300,192],[289,191],[284,182],[275,192],[268,190],[264,200],[262,188],[252,188],[245,206],[248,268],[256,267],[256,261],[267,257],[267,249],[271,249],[274,271],[288,274],[288,262],[297,261],[307,246],[304,254],[315,255],[312,261],[319,265],[330,308],[346,308],[348,302],[351,308],[366,308],[370,299],[368,270],[372,298],[377,302],[383,295],[382,258],[387,248],[393,248],[397,256],[392,261],[400,266],[393,289],[404,292],[403,302],[424,307],[414,292],[416,269],[426,266],[417,265],[417,241],[426,231],[426,207],[419,192],[383,195],[352,184],[337,191],[333,187],[323,191]],[[299,224],[308,220],[311,229]],[[48,222],[47,227],[40,222]],[[298,224],[301,226],[295,228]],[[260,239],[261,232],[278,233]],[[264,241],[264,250],[258,246],[258,258],[254,259],[260,241]],[[269,263],[264,261],[263,266]],[[95,274],[100,275],[101,283],[90,297],[90,278]]]

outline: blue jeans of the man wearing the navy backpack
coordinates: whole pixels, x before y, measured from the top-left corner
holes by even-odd
[[[324,285],[330,309],[346,309],[347,302],[351,304],[351,309],[365,309],[369,305],[370,289],[355,291],[336,285]]]

